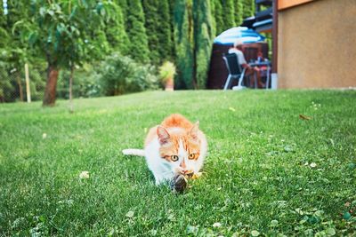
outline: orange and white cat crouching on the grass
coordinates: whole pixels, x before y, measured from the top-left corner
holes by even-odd
[[[198,175],[206,157],[206,136],[182,115],[170,115],[150,129],[144,150],[125,149],[124,154],[146,157],[156,185],[172,180],[174,175]]]

